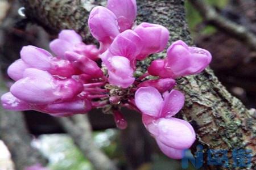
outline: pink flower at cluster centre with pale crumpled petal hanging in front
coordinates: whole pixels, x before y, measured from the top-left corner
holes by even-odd
[[[126,30],[115,37],[109,49],[101,55],[108,69],[110,84],[122,88],[133,84],[135,57],[141,52],[141,48],[141,38],[132,30]]]

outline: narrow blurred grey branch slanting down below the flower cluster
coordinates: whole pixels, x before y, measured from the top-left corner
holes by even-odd
[[[98,170],[115,170],[117,169],[112,161],[94,144],[92,136],[92,127],[87,115],[77,114],[70,118],[57,118],[61,126],[73,141],[80,148],[86,158],[94,168]]]

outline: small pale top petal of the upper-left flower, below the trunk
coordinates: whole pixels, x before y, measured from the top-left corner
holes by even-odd
[[[59,39],[75,45],[82,42],[82,37],[72,29],[64,29],[59,33]]]

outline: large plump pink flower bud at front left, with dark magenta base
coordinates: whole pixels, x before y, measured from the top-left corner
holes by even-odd
[[[34,104],[49,104],[56,100],[72,99],[82,91],[82,84],[74,79],[58,80],[47,71],[26,69],[23,78],[10,88],[20,100]]]

